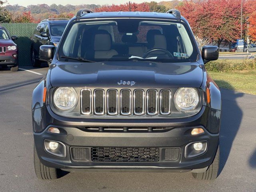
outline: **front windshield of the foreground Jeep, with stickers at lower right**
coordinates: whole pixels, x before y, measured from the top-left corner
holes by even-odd
[[[77,62],[78,58],[193,62],[197,52],[181,22],[129,18],[74,23],[62,41],[59,59]]]

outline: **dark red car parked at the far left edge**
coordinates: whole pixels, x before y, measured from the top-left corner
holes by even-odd
[[[17,36],[10,36],[6,28],[0,26],[0,66],[10,67],[11,71],[18,71],[18,47],[13,42]]]

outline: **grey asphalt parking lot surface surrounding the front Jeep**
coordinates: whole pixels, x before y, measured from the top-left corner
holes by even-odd
[[[70,173],[59,180],[36,178],[31,97],[48,68],[0,70],[1,192],[256,191],[256,96],[222,92],[220,175],[212,182],[187,173]],[[35,72],[35,73],[33,73]]]

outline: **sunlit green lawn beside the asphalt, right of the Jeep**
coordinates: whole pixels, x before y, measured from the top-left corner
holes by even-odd
[[[208,71],[208,74],[220,88],[256,95],[256,70]]]

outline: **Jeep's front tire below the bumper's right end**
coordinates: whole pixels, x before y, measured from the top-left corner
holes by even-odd
[[[206,172],[192,173],[192,176],[198,180],[214,180],[218,177],[219,164],[220,164],[220,150],[218,147],[215,158],[212,164],[206,170]]]

